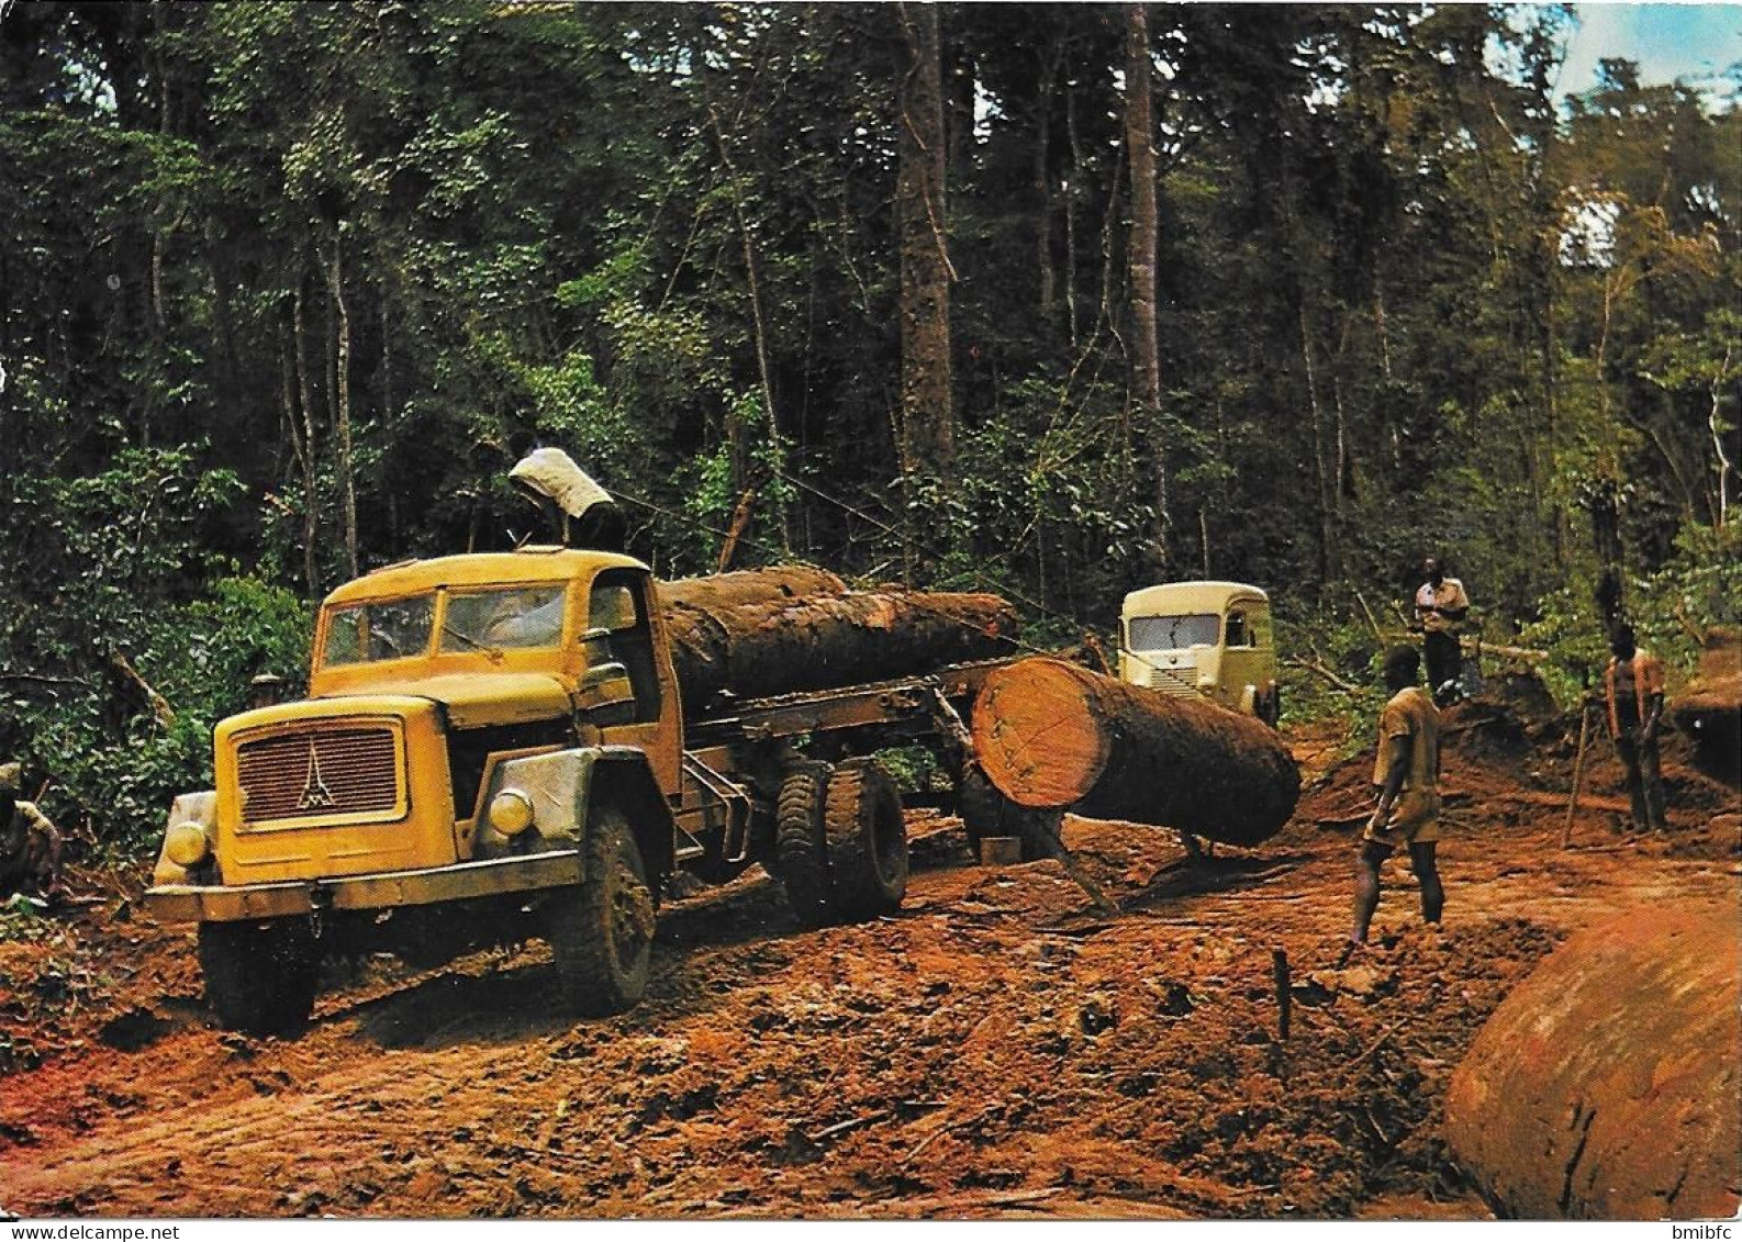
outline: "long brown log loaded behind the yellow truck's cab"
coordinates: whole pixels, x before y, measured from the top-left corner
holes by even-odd
[[[998,596],[883,587],[756,599],[742,585],[660,592],[685,711],[706,712],[728,693],[831,690],[1012,651],[1016,610]]]

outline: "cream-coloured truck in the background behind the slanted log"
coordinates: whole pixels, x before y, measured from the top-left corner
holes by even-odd
[[[1202,697],[1275,728],[1282,711],[1270,596],[1244,582],[1169,582],[1125,596],[1124,681]]]

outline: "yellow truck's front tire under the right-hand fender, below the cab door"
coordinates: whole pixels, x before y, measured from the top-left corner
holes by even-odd
[[[653,894],[629,815],[599,807],[587,824],[587,878],[544,902],[545,939],[566,1012],[606,1016],[636,1005],[653,962]]]

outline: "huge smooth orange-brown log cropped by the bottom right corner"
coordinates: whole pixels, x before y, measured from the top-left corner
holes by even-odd
[[[1587,928],[1502,1002],[1446,1094],[1458,1164],[1526,1219],[1742,1207],[1737,906]]]

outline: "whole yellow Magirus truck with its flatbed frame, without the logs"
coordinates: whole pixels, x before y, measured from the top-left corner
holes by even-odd
[[[868,753],[960,759],[998,660],[730,700],[685,719],[650,570],[524,547],[411,561],[321,606],[308,697],[214,732],[216,789],[176,798],[146,908],[197,923],[233,1029],[300,1029],[326,956],[434,967],[550,944],[566,1009],[648,982],[655,909],[683,869],[753,862],[801,921],[895,909],[901,800]]]

